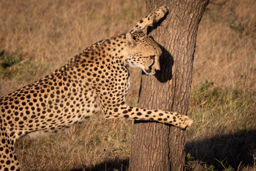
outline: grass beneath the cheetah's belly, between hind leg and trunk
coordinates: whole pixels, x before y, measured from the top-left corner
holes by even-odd
[[[26,170],[125,169],[131,124],[94,116],[61,135],[19,140],[18,156]]]

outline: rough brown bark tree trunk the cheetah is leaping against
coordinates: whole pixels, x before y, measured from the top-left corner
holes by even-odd
[[[169,14],[151,32],[162,47],[161,70],[155,76],[142,75],[138,107],[186,115],[197,30],[209,0],[146,3],[148,13],[165,5]],[[129,170],[185,170],[184,146],[184,130],[153,121],[135,121]]]

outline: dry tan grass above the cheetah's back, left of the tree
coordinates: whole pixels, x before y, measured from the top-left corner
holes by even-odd
[[[50,74],[92,43],[128,31],[145,15],[144,3],[130,0],[1,1],[0,9],[0,50],[22,58],[12,79],[2,78],[1,96]],[[17,75],[29,64],[30,75]]]

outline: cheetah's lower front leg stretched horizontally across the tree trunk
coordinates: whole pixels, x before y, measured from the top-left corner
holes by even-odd
[[[132,120],[155,120],[161,123],[172,124],[178,128],[191,127],[193,120],[177,112],[165,112],[131,107],[127,104],[117,105],[104,111],[104,117],[108,119],[132,119]]]

